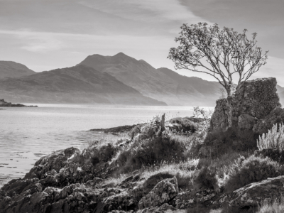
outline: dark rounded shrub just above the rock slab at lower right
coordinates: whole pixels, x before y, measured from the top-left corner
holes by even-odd
[[[281,174],[283,174],[283,168],[270,158],[259,158],[254,155],[249,158],[241,156],[231,165],[229,180],[226,181],[224,187],[227,192],[232,192],[251,182],[258,182]]]

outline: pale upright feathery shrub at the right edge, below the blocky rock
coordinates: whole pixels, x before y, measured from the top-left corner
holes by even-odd
[[[262,137],[259,136],[259,140],[257,141],[257,147],[259,150],[263,150],[266,148],[275,148],[279,151],[284,150],[284,125],[279,124],[279,128],[277,124],[274,124],[272,129],[268,130],[268,133],[263,133]]]

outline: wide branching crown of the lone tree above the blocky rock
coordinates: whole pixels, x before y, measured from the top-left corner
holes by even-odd
[[[256,46],[256,33],[246,37],[247,30],[237,33],[232,28],[219,28],[198,23],[183,24],[178,48],[170,48],[168,58],[175,62],[175,69],[203,72],[218,80],[231,97],[233,75],[238,85],[266,64],[267,53]],[[234,77],[234,79],[236,79]]]

